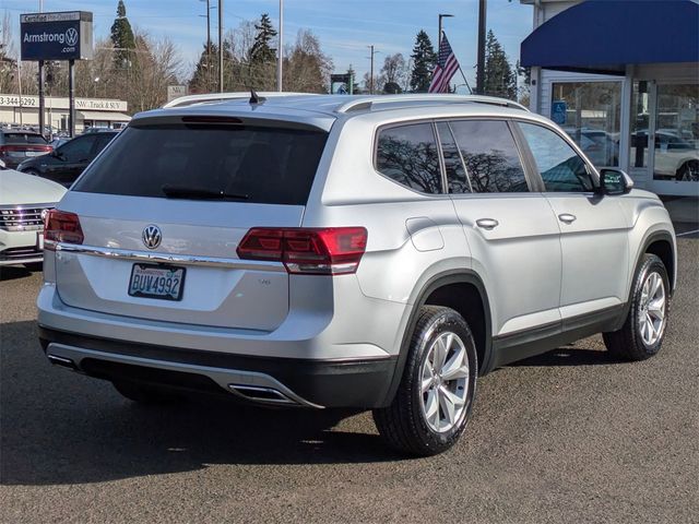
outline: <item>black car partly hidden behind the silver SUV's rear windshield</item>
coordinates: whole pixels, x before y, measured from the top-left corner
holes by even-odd
[[[17,170],[69,187],[117,134],[119,131],[114,130],[81,134],[59,145],[49,155],[26,159]]]

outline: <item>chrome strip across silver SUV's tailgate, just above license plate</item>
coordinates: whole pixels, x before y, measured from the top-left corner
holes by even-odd
[[[199,257],[191,254],[177,253],[149,253],[145,251],[132,251],[128,249],[117,248],[98,248],[96,246],[82,246],[75,243],[55,242],[52,240],[44,241],[45,248],[54,249],[56,252],[87,254],[91,257],[105,257],[109,259],[132,260],[135,262],[154,262],[158,264],[179,264],[179,265],[198,265],[205,267],[230,267],[235,270],[262,270],[276,271],[283,273],[286,271],[281,262],[272,262],[266,260],[239,260],[224,259],[217,257]]]

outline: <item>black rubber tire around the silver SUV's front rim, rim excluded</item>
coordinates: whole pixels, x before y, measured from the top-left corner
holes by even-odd
[[[661,335],[653,344],[647,344],[641,335],[640,317],[643,312],[642,303],[642,288],[643,283],[651,273],[660,274],[665,290],[665,314],[664,324],[662,325]],[[607,350],[624,360],[645,360],[660,352],[663,345],[663,338],[665,337],[665,331],[667,327],[667,319],[670,315],[670,302],[671,302],[671,288],[670,278],[667,277],[667,270],[663,261],[650,253],[645,253],[641,259],[641,263],[636,272],[636,277],[631,285],[630,300],[631,306],[629,308],[628,315],[620,330],[603,333],[604,345]]]

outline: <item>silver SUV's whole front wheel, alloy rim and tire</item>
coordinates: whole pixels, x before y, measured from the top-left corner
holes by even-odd
[[[631,305],[624,325],[602,335],[611,354],[625,360],[645,360],[660,352],[667,327],[670,290],[665,264],[645,253],[631,285]]]

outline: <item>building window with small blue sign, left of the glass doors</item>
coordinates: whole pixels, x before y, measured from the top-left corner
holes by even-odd
[[[596,167],[619,165],[621,82],[554,83],[550,119]]]

